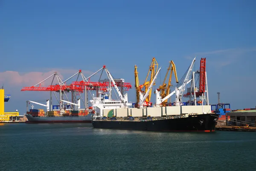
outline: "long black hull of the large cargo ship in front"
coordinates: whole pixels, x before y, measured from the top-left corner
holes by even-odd
[[[192,115],[186,118],[150,121],[92,121],[94,128],[148,131],[215,131],[218,114]]]

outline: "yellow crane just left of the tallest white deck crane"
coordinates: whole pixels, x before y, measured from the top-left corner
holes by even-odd
[[[167,75],[169,71],[171,70],[170,76],[169,76],[169,81],[168,85],[165,83]],[[172,72],[174,72],[176,83],[179,83],[178,77],[177,77],[177,72],[176,72],[176,67],[173,61],[169,61],[169,67],[167,68],[166,76],[163,80],[163,84],[159,86],[159,91],[160,91],[160,96],[165,98],[169,93],[170,93],[170,87],[172,86]],[[162,102],[162,106],[166,106],[168,99]]]

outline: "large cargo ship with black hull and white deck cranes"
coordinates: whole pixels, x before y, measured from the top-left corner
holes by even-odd
[[[194,63],[195,58],[185,73],[180,86],[177,85],[172,93],[162,99],[160,91],[155,90],[156,104],[154,107],[145,107],[143,104],[145,104],[145,98],[148,96],[161,67],[154,76],[153,81],[151,81],[145,95],[142,96],[140,94],[140,104],[137,108],[131,107],[132,104],[128,103],[127,94],[122,96],[115,86],[115,81],[109,74],[109,78],[113,82],[121,100],[108,99],[105,101],[104,97],[94,98],[92,102],[95,110],[92,116],[93,128],[148,131],[215,131],[219,115],[211,112],[210,105],[204,105],[204,93],[201,96],[201,105],[195,105],[195,103],[194,105],[184,106],[181,100],[185,86],[194,81],[193,78],[189,80]],[[174,106],[161,106],[163,101],[174,94],[176,95]],[[115,104],[116,102],[119,105],[118,107],[105,107],[105,104]]]

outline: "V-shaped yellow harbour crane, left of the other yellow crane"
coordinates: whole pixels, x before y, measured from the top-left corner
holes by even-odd
[[[135,65],[134,76],[135,76],[135,90],[136,90],[136,100],[137,100],[136,104],[135,104],[135,107],[138,107],[138,104],[140,102],[140,94],[144,95],[145,92],[147,92],[148,87],[150,86],[151,82],[153,81],[154,76],[155,76],[157,70],[158,70],[157,61],[156,61],[155,58],[152,58],[152,62],[151,62],[151,65],[149,67],[148,74],[147,74],[147,77],[146,77],[146,79],[144,81],[144,84],[140,85],[139,77],[138,77],[138,71],[137,71],[137,66]],[[151,72],[151,74],[150,74],[150,79],[148,80],[149,72]],[[154,82],[153,85],[155,85],[155,82]],[[143,90],[143,88],[145,88],[145,89]],[[151,102],[150,102],[151,91],[152,91],[152,89],[149,91],[149,94],[148,94],[148,96],[145,99],[146,106],[151,106]]]

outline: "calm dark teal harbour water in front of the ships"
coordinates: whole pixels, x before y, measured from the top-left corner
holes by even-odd
[[[255,171],[256,133],[0,124],[0,171]]]

